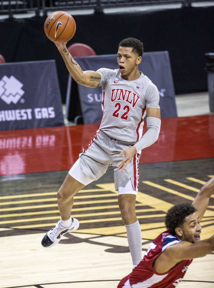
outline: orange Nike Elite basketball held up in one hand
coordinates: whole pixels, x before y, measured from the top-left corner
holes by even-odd
[[[73,37],[76,31],[76,23],[67,12],[56,11],[46,18],[44,31],[51,41],[62,43]]]

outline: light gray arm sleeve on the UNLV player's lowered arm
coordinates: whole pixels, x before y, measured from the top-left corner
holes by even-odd
[[[160,133],[160,123],[161,123],[160,119],[156,117],[147,117],[146,123],[147,123],[147,131],[141,137],[141,139],[134,145],[137,150],[137,153],[139,153],[139,151],[141,151],[143,148],[149,147],[151,144],[153,144],[155,141],[158,140],[158,135]]]

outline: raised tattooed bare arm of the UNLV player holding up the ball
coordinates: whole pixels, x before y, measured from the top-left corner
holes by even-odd
[[[55,43],[56,47],[58,48],[60,54],[63,57],[65,65],[71,74],[72,78],[78,83],[83,86],[87,87],[98,87],[101,80],[100,73],[96,71],[82,71],[79,64],[73,59],[71,54],[69,53],[66,43]]]

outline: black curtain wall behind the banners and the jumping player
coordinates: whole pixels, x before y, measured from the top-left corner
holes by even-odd
[[[97,55],[116,54],[122,39],[134,37],[143,42],[145,52],[169,52],[176,94],[206,91],[205,53],[213,52],[213,14],[211,6],[75,15],[76,33],[67,46],[85,43]],[[43,31],[45,19],[0,20],[0,54],[6,62],[55,59],[65,103],[68,73],[54,43]]]

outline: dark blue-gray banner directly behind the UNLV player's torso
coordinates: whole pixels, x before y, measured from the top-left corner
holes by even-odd
[[[118,69],[117,55],[97,55],[75,57],[83,71],[99,68]],[[139,70],[157,86],[160,95],[160,114],[162,118],[177,117],[175,90],[168,51],[145,52]],[[84,124],[99,123],[103,111],[101,109],[102,88],[78,86],[79,99]],[[69,99],[67,99],[69,102]]]

